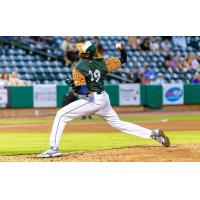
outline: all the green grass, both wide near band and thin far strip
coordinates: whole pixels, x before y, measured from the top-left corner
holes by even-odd
[[[138,121],[198,121],[200,115],[153,115],[123,116],[123,120]],[[46,119],[6,119],[1,124],[52,124],[53,118]],[[75,122],[102,122],[99,117],[92,120],[76,119]],[[200,131],[166,132],[172,144],[200,144]],[[0,133],[0,155],[36,154],[48,148],[49,133]],[[112,149],[135,145],[157,144],[148,139],[141,139],[123,133],[66,133],[63,134],[60,148],[62,152],[91,151]]]

